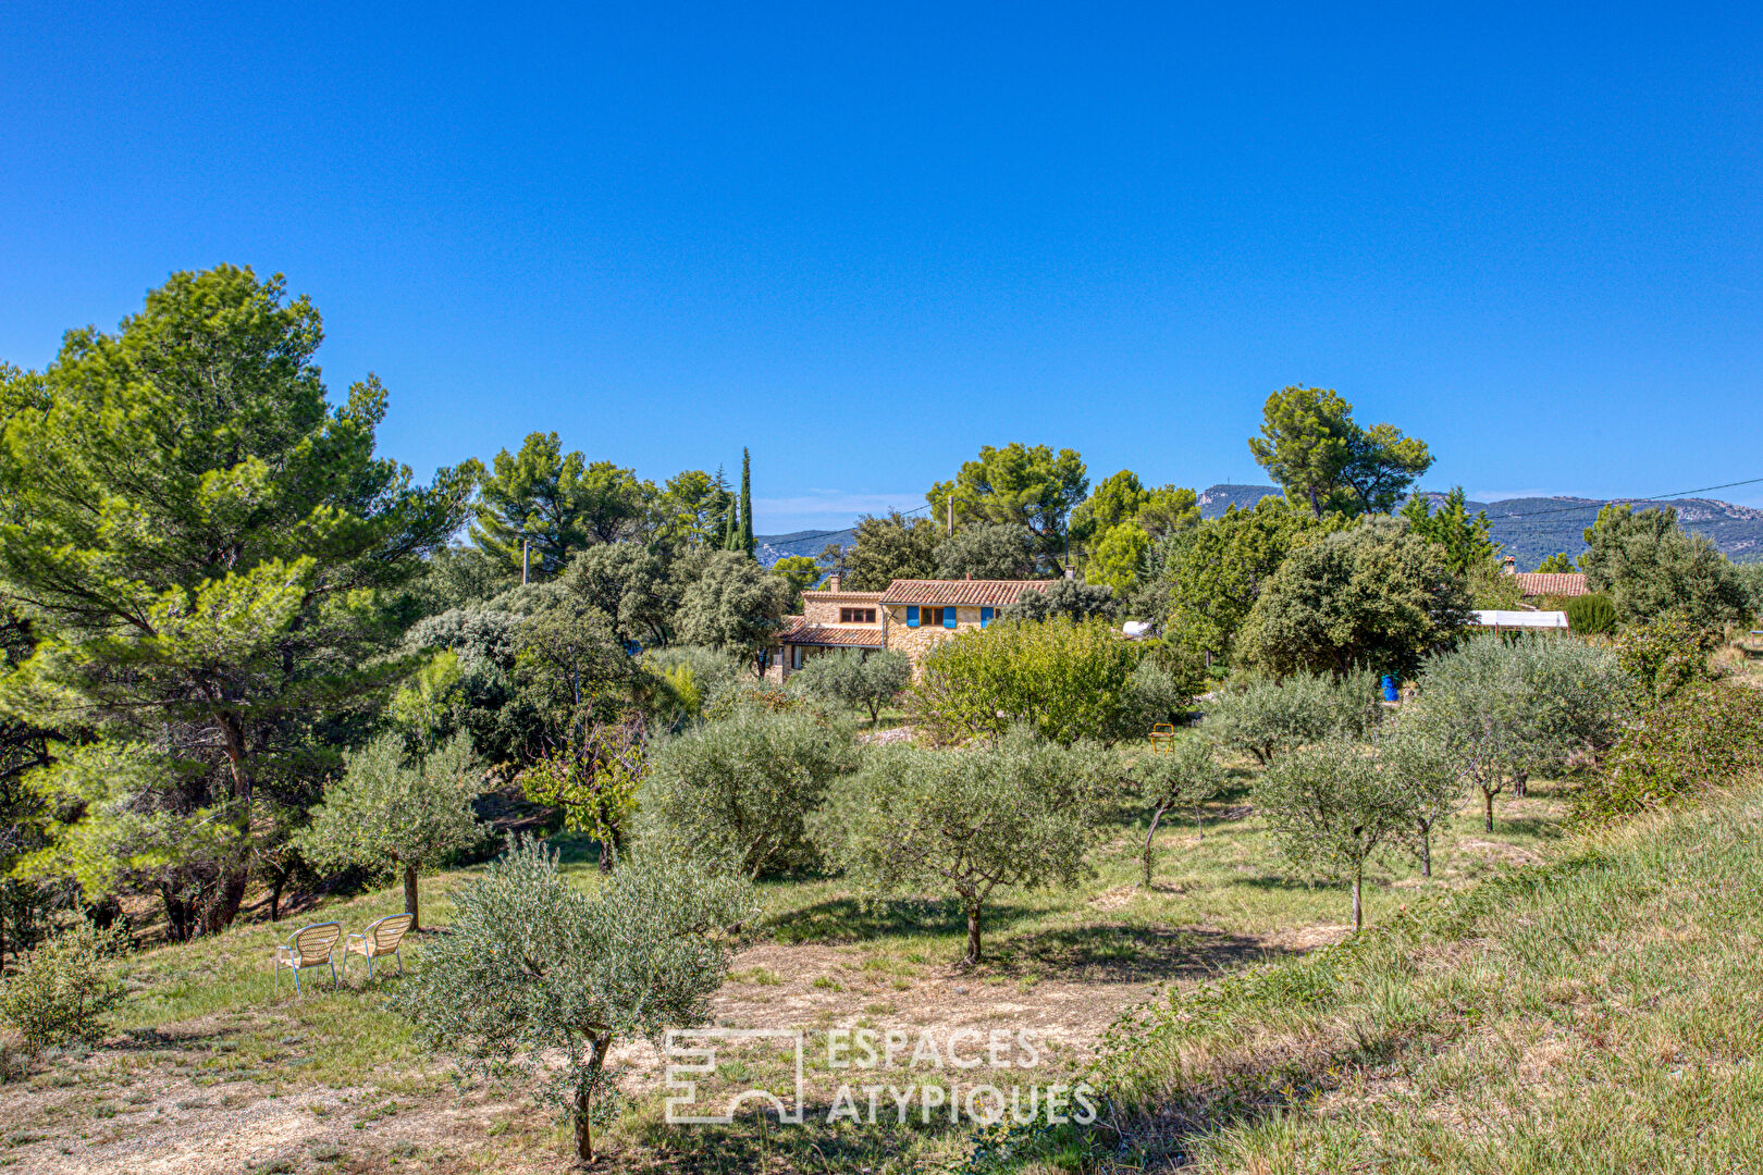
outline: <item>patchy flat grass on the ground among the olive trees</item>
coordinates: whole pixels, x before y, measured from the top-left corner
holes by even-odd
[[[1132,757],[1142,749],[1121,754]],[[1033,1001],[1044,985],[1084,985],[1105,1001],[1118,999],[1109,992],[1128,990],[1116,985],[1176,981],[1192,987],[1338,937],[1349,920],[1345,890],[1312,884],[1269,858],[1262,823],[1246,810],[1246,786],[1243,772],[1231,793],[1204,807],[1197,823],[1194,814],[1165,817],[1149,890],[1139,884],[1146,814],[1121,809],[1104,844],[1091,854],[1095,876],[1075,890],[996,895],[986,914],[987,962],[968,972],[952,969],[966,944],[966,925],[941,895],[866,904],[839,877],[765,883],[765,914],[756,935],[783,948],[813,948],[818,953],[799,967],[799,974],[788,974],[788,965],[776,957],[767,957],[765,965],[740,965],[730,974],[730,992],[751,997],[774,990],[786,997],[806,992],[848,1004],[848,1015],[841,1013],[844,1022],[867,1024],[871,1016],[892,1015],[892,1001],[911,995],[926,983],[994,985],[975,990],[996,990],[1021,1001]],[[1462,891],[1513,860],[1546,853],[1558,835],[1562,810],[1555,789],[1537,784],[1530,800],[1509,803],[1502,798],[1493,835],[1484,835],[1474,814],[1467,814],[1435,849],[1437,876],[1432,881],[1421,883],[1409,860],[1391,860],[1375,870],[1366,888],[1368,921],[1387,921],[1425,893]],[[599,884],[596,858],[585,840],[564,837],[554,844],[564,870],[578,884]],[[444,927],[451,914],[450,895],[469,884],[476,872],[460,868],[425,877],[423,923]],[[28,1120],[18,1119],[18,1129],[44,1138],[32,1143],[32,1152],[46,1154],[95,1126],[139,1129],[136,1124],[150,1110],[138,1110],[130,1096],[166,1080],[185,1080],[196,1087],[197,1097],[180,1094],[185,1101],[206,1097],[185,1112],[217,1115],[229,1112],[222,1096],[234,1105],[247,1096],[291,1097],[307,1105],[330,1090],[346,1101],[335,1110],[312,1101],[314,1127],[340,1124],[351,1156],[372,1122],[451,1105],[444,1059],[428,1057],[409,1025],[386,1009],[386,995],[407,981],[398,978],[395,967],[376,972],[368,983],[365,969],[351,965],[338,990],[331,988],[328,971],[307,971],[301,979],[305,994],[298,997],[287,976],[277,981],[270,969],[273,946],[309,921],[337,920],[346,930],[358,930],[400,907],[402,893],[388,888],[326,902],[275,925],[238,925],[212,939],[159,946],[130,957],[125,965],[130,995],[118,1016],[127,1043],[83,1060],[39,1066],[33,1089],[63,1090],[58,1082],[65,1080],[65,1089],[83,1101],[78,1113],[42,1110]],[[427,941],[432,941],[428,934],[405,941],[409,971],[421,969]],[[834,1022],[827,1013],[807,1020],[800,1027],[822,1032]],[[785,1075],[777,1057],[755,1053],[737,1059],[748,1066],[744,1078],[772,1082]],[[1068,1068],[1079,1062],[1061,1055],[1060,1064]],[[934,1122],[929,1127],[822,1124],[779,1129],[755,1119],[714,1131],[668,1129],[661,1124],[659,1076],[651,1076],[654,1089],[640,1089],[608,1134],[621,1159],[636,1164],[716,1171],[758,1171],[779,1164],[830,1171],[869,1168],[880,1175],[954,1163],[970,1149],[966,1127],[950,1129]],[[210,1087],[224,1090],[208,1092]],[[242,1089],[256,1094],[238,1092]],[[93,1117],[100,1105],[116,1117]],[[5,1090],[0,1089],[0,1112],[4,1106]],[[458,1170],[525,1170],[525,1159],[518,1156],[550,1161],[561,1150],[561,1136],[545,1112],[529,1101],[513,1103],[471,1131],[467,1138],[474,1142],[462,1143],[469,1163],[462,1159],[465,1166]],[[314,1145],[335,1143],[319,1140]],[[539,1166],[543,1161],[534,1159]]]

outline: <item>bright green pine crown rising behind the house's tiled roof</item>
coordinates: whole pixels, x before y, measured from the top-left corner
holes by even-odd
[[[1023,442],[1001,449],[982,446],[978,458],[964,462],[954,481],[940,481],[924,495],[936,521],[956,502],[956,521],[1007,521],[1035,532],[1040,553],[1053,558],[1065,543],[1065,523],[1084,500],[1090,477],[1075,449],[1058,454],[1044,444]]]

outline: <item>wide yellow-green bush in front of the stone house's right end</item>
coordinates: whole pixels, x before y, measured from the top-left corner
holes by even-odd
[[[1142,655],[1104,620],[1003,620],[931,652],[910,694],[915,726],[940,742],[1042,738],[1112,743],[1142,735],[1132,671]]]

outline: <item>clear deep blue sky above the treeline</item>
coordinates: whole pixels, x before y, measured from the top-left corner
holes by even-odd
[[[746,444],[760,530],[1259,479],[1292,382],[1476,497],[1763,476],[1759,5],[569,7],[12,0],[0,359],[282,271],[421,476]]]

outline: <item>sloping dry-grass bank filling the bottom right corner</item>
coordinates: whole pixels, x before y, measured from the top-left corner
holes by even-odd
[[[1763,1166],[1763,791],[1179,994],[1100,1075],[1195,1171]]]

